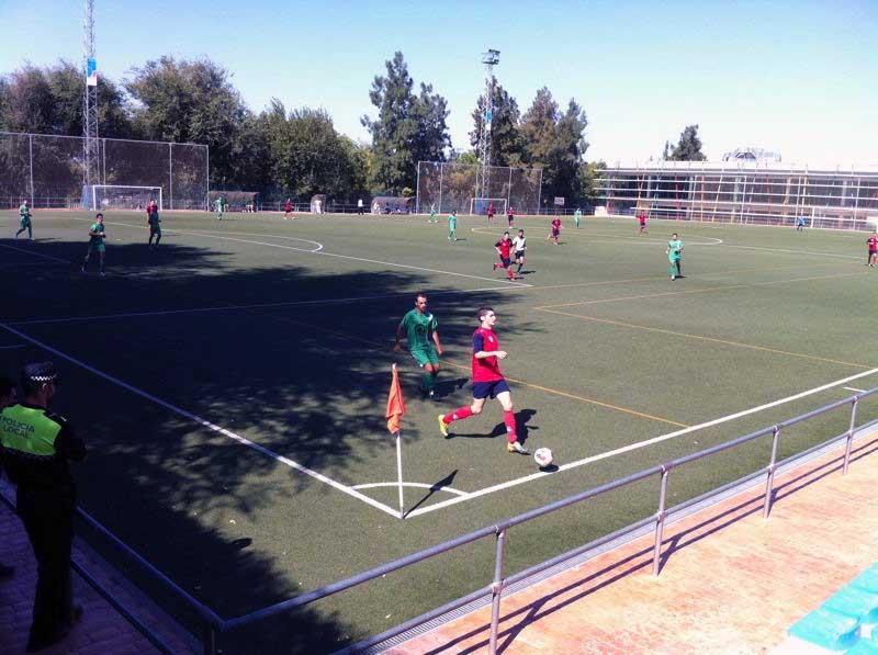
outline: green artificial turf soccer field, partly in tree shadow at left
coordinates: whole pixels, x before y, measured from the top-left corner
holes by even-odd
[[[57,363],[56,408],[90,447],[81,507],[225,618],[878,385],[865,233],[655,221],[638,235],[633,218],[587,217],[565,219],[554,246],[544,217],[521,217],[525,274],[507,282],[492,271],[504,227],[472,217],[457,242],[419,216],[162,219],[149,250],[142,213],[108,212],[101,279],[94,261],[79,272],[91,215],[37,210],[26,241],[0,212],[0,370]],[[685,241],[676,281],[672,231]],[[434,400],[392,350],[417,291],[446,348]],[[556,470],[506,452],[495,402],[448,439],[437,430],[470,402],[480,305],[498,315],[521,439]],[[383,416],[393,363],[405,520]],[[857,422],[876,417],[864,400]],[[780,456],[846,421],[790,428]],[[675,471],[669,505],[765,466],[769,450],[767,438]],[[656,497],[637,485],[516,528],[507,572],[646,517]],[[493,544],[472,544],[224,645],[334,650],[487,584],[492,567]]]

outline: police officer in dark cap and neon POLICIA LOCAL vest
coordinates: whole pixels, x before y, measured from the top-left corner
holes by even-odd
[[[29,653],[61,641],[81,614],[70,589],[76,485],[68,462],[82,460],[86,444],[48,409],[57,384],[52,362],[27,364],[21,380],[24,402],[0,413],[3,465],[18,486],[19,517],[37,563]]]

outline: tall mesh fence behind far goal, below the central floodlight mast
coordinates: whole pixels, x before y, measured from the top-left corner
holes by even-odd
[[[476,173],[480,169],[475,163],[418,162],[417,211],[426,213],[435,206],[441,213],[484,213],[482,200],[488,199],[494,200],[495,210],[503,204],[504,208],[515,207],[517,213],[537,212],[542,183],[540,169],[489,166],[485,174],[488,193],[479,195]]]

